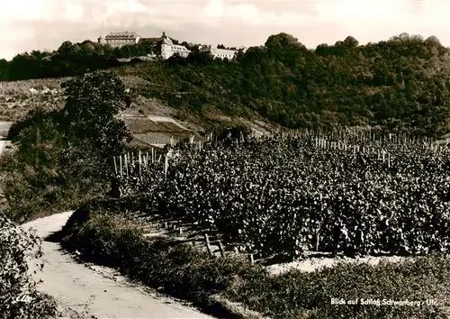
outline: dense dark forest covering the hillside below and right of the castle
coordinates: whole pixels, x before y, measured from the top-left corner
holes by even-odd
[[[148,80],[141,95],[186,113],[260,116],[293,129],[370,126],[436,136],[449,128],[449,53],[436,37],[408,33],[366,45],[349,36],[315,50],[279,33],[232,61],[193,51],[187,59],[117,71]],[[99,68],[115,66],[112,55],[96,57],[104,63]]]

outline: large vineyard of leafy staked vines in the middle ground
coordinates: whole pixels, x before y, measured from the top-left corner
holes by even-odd
[[[145,214],[261,256],[450,251],[446,144],[344,131],[209,140],[114,159],[114,185],[146,193]]]

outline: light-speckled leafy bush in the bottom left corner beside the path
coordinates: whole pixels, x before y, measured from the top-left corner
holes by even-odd
[[[55,300],[40,294],[28,273],[27,260],[40,256],[39,237],[31,231],[23,231],[0,212],[0,318],[57,315]]]

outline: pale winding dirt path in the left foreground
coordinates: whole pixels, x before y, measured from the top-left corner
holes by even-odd
[[[45,238],[61,229],[71,214],[53,214],[25,223],[23,228],[35,228]],[[174,299],[159,297],[146,287],[130,284],[113,269],[79,264],[58,243],[44,241],[42,251],[45,266],[34,276],[43,280],[40,291],[56,297],[64,308],[84,313],[83,317],[212,318]]]

